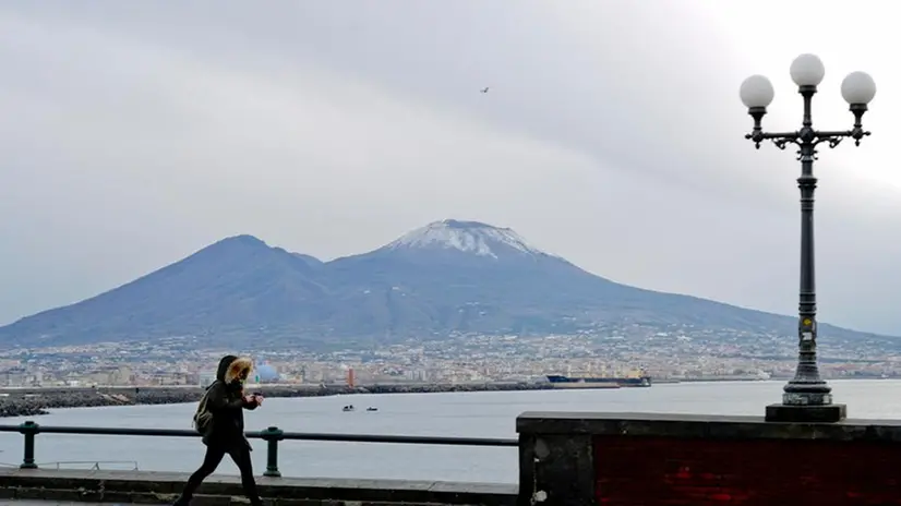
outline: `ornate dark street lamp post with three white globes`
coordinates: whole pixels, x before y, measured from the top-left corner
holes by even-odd
[[[838,422],[845,418],[845,406],[832,403],[831,388],[819,375],[817,366],[817,300],[814,270],[814,190],[817,178],[814,177],[814,160],[817,159],[817,146],[825,143],[836,147],[850,137],[855,145],[869,132],[863,129],[861,119],[867,110],[867,104],[876,95],[873,77],[864,72],[852,72],[842,81],[841,94],[854,115],[851,130],[815,130],[810,115],[810,104],[817,93],[817,85],[822,82],[826,70],[815,55],[801,55],[792,62],[790,73],[797,84],[797,92],[804,99],[804,118],[801,129],[793,132],[764,132],[760,122],[767,113],[767,106],[772,103],[773,89],[770,81],[762,75],[752,75],[741,86],[742,103],[754,119],[754,130],[745,135],[759,149],[764,141],[772,141],[777,147],[784,149],[789,144],[797,146],[797,159],[801,161],[801,289],[798,293],[798,353],[797,370],[783,388],[782,403],[767,406],[767,421],[773,422]]]

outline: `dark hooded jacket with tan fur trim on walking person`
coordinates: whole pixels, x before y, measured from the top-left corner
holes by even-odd
[[[213,415],[212,423],[203,434],[207,446],[226,450],[250,448],[244,436],[244,411],[256,409],[256,402],[244,400],[243,381],[250,375],[253,362],[247,358],[226,356],[219,361],[216,381],[207,387],[207,409]]]

